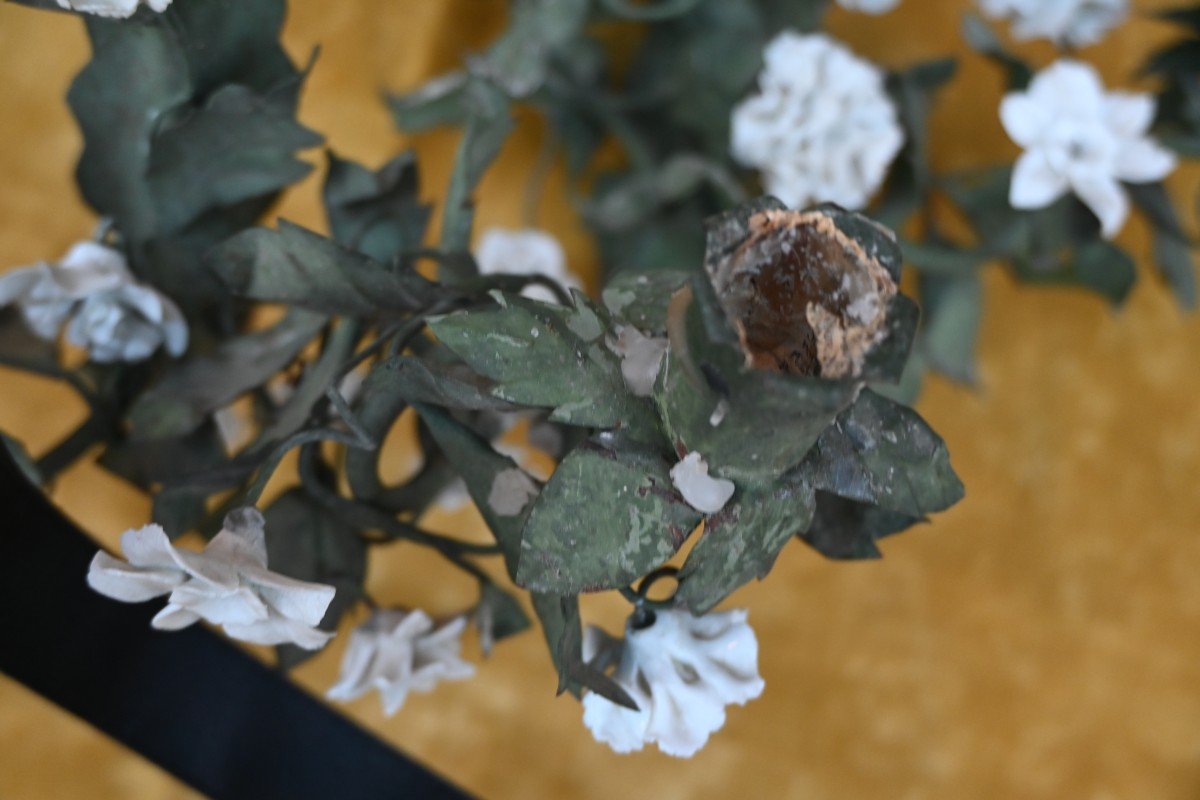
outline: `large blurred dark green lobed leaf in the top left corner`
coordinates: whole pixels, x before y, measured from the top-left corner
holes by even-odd
[[[86,18],[92,59],[68,94],[84,136],[77,178],[134,246],[306,172],[281,152],[317,140],[290,120],[302,76],[278,43],[283,13],[282,0],[191,0]]]

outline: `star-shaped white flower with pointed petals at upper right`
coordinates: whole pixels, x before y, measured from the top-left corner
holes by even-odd
[[[1104,91],[1096,70],[1063,59],[1039,72],[1027,91],[1000,106],[1004,130],[1025,152],[1013,169],[1009,203],[1042,209],[1074,192],[1111,239],[1129,216],[1121,181],[1162,180],[1175,156],[1146,136],[1154,119],[1150,95]]]

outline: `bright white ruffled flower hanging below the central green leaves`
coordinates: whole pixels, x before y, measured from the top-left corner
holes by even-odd
[[[583,657],[590,661],[605,634],[588,628]],[[762,694],[758,642],[742,609],[692,616],[655,612],[654,622],[626,625],[620,661],[612,675],[637,703],[637,711],[595,693],[583,698],[583,724],[618,753],[654,742],[664,753],[688,758],[725,724],[725,706]]]

